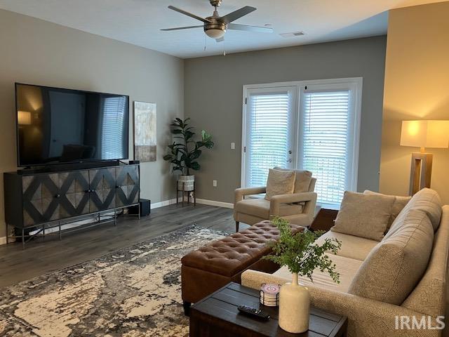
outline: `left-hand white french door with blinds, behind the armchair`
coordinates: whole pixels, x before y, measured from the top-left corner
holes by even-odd
[[[246,92],[243,126],[244,186],[264,186],[274,166],[293,168],[296,161],[295,86],[253,88]]]

